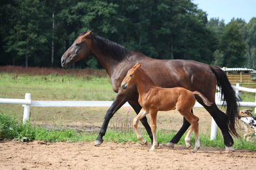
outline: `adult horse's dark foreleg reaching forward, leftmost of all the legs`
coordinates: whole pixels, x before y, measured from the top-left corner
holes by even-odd
[[[123,104],[126,103],[126,95],[122,93],[118,93],[115,97],[114,102],[112,103],[111,107],[108,109],[108,111],[105,114],[103,125],[101,126],[100,133],[98,134],[98,137],[96,138],[96,141],[94,142],[94,146],[99,146],[101,143],[103,143],[103,137],[106,134],[106,129],[108,128],[108,124],[110,121],[110,118],[113,117],[115,112],[118,111],[119,108],[122,107]]]

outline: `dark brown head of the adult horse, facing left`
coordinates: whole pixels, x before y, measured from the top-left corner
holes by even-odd
[[[61,57],[61,66],[67,69],[72,63],[90,55],[89,37],[92,31],[81,33]]]

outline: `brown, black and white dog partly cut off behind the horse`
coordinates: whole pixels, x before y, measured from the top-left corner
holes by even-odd
[[[246,139],[246,141],[249,141],[251,136],[255,134],[255,123],[256,123],[256,117],[251,114],[253,110],[247,110],[243,109],[239,112],[238,116],[243,123],[243,126],[245,127],[246,133],[243,135],[243,139]],[[255,134],[256,135],[256,134]]]

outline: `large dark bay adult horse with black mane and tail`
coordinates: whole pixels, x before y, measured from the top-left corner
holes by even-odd
[[[72,63],[80,59],[86,59],[89,56],[95,57],[104,67],[112,81],[112,88],[117,96],[112,106],[105,114],[105,119],[100,133],[94,143],[100,145],[106,133],[110,118],[114,113],[128,103],[138,114],[141,111],[141,105],[138,103],[138,91],[135,85],[126,90],[121,88],[121,82],[125,78],[127,71],[137,62],[143,62],[143,69],[159,87],[184,87],[190,91],[199,91],[213,104],[208,107],[203,103],[200,97],[196,100],[204,106],[205,109],[216,121],[224,137],[226,150],[234,151],[234,144],[230,133],[237,136],[235,122],[238,114],[238,105],[236,94],[224,71],[217,66],[210,66],[196,61],[187,61],[182,59],[162,60],[152,59],[144,56],[142,53],[127,50],[115,42],[106,40],[92,31],[81,33],[73,42],[71,47],[61,57],[61,65],[68,68]],[[221,112],[215,104],[216,86],[221,88],[222,96],[226,101],[226,114]],[[152,132],[148,125],[146,117],[141,120],[152,141]],[[174,138],[168,143],[174,147],[179,142],[181,136],[189,128],[190,124],[185,118],[183,126],[177,132]]]

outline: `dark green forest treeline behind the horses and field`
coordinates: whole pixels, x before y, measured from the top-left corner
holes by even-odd
[[[81,32],[158,59],[256,69],[256,18],[228,24],[191,0],[1,0],[0,65],[61,67]],[[76,68],[101,69],[95,58]]]

